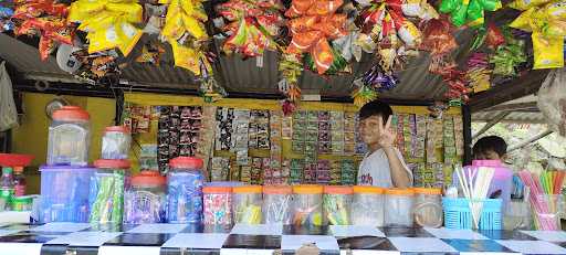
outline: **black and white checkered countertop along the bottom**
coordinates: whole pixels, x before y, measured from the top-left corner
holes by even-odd
[[[566,232],[77,223],[0,226],[0,254],[10,255],[294,254],[304,244],[315,244],[321,254],[566,254]]]

